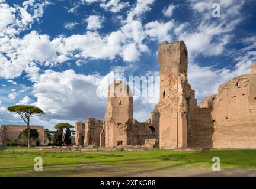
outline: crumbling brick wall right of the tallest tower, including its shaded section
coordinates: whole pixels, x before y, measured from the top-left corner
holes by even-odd
[[[190,112],[188,146],[256,148],[256,77],[238,76],[219,86]],[[256,71],[255,71],[256,73]]]

